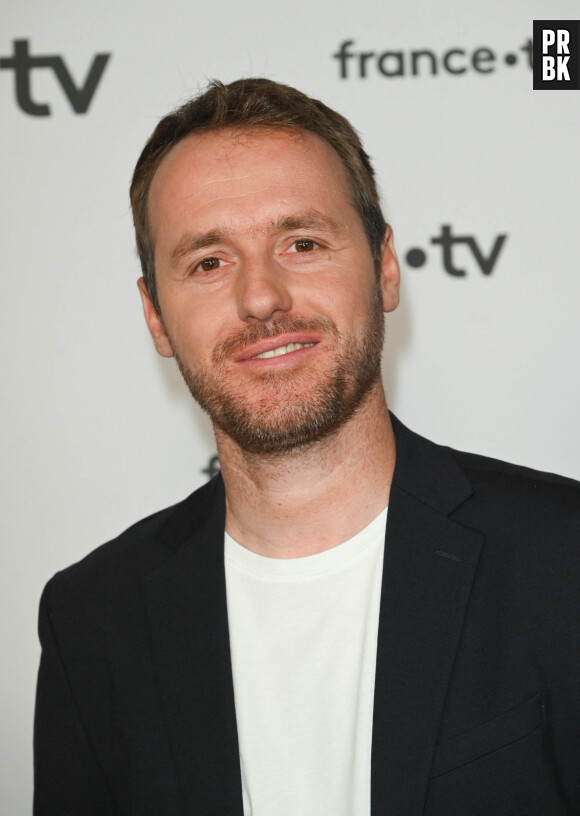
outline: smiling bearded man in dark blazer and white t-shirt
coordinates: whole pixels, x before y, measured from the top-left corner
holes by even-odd
[[[580,812],[578,485],[389,415],[399,270],[352,127],[213,83],[131,198],[222,473],[48,584],[37,816]]]

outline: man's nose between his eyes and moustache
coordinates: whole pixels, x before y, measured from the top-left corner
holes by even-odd
[[[267,321],[276,312],[288,312],[292,298],[287,272],[269,256],[244,261],[238,278],[238,315],[241,320]]]

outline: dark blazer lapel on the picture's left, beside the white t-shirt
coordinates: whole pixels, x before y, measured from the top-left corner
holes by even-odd
[[[242,816],[223,559],[221,476],[162,531],[144,582],[160,697],[188,812]],[[202,811],[203,806],[203,811]]]

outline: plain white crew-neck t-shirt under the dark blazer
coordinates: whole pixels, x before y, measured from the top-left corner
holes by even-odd
[[[337,547],[265,558],[225,536],[245,816],[369,816],[387,510]]]

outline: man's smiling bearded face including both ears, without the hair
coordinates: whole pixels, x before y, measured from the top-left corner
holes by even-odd
[[[334,150],[308,133],[185,138],[149,193],[161,314],[140,281],[157,350],[174,355],[216,430],[284,453],[339,428],[380,379],[380,274]]]

